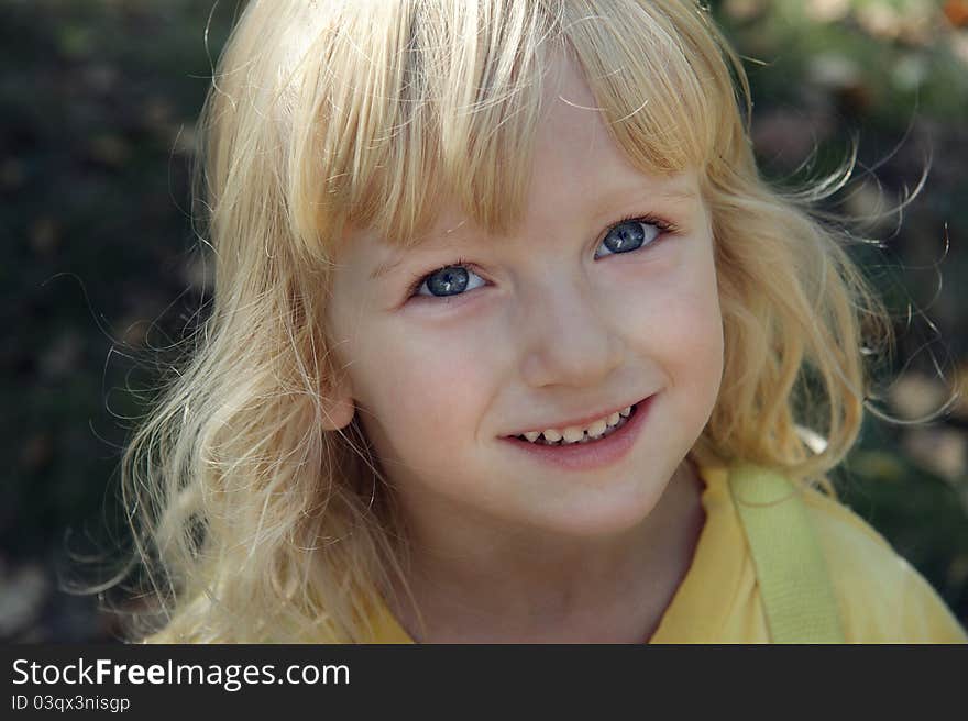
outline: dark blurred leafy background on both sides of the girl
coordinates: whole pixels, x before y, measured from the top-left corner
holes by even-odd
[[[194,119],[238,3],[0,0],[0,640],[111,640],[97,552],[123,544],[117,466],[156,370],[206,311]],[[864,253],[897,315],[878,407],[968,389],[968,0],[723,0],[763,173],[835,169],[826,208],[878,215]],[[930,160],[928,160],[930,158]],[[150,360],[150,363],[145,363]],[[837,486],[968,623],[968,403],[871,418]],[[94,559],[79,577],[73,557]]]

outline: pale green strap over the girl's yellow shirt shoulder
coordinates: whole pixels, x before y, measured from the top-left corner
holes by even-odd
[[[773,643],[843,643],[826,563],[800,493],[782,474],[749,464],[729,489],[757,572]]]

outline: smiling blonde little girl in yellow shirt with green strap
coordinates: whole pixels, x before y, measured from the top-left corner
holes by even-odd
[[[833,493],[889,318],[741,111],[684,0],[251,0],[140,635],[965,641]]]

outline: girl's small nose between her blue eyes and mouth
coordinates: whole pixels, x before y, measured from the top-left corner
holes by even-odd
[[[585,278],[550,271],[532,285],[518,328],[522,375],[532,387],[602,386],[622,365],[620,309]]]

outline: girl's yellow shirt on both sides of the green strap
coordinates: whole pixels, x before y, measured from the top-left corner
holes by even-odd
[[[752,557],[726,468],[700,468],[706,523],[649,643],[769,643]],[[968,643],[931,585],[870,525],[815,490],[804,495],[847,643]],[[384,608],[375,643],[413,643]]]

